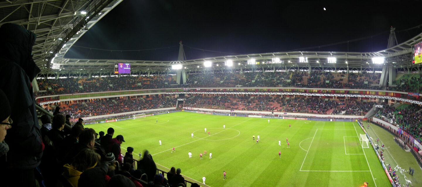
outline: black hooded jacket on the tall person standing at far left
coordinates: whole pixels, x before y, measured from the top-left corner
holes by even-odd
[[[7,165],[16,169],[37,167],[43,154],[31,85],[40,72],[31,54],[35,38],[20,25],[5,23],[0,27],[0,89],[9,99],[13,119],[5,137],[10,148]]]

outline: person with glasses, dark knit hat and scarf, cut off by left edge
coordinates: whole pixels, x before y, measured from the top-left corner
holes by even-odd
[[[2,90],[0,90],[0,158],[9,151],[9,146],[4,142],[7,129],[11,128],[13,121],[10,119],[9,100]]]

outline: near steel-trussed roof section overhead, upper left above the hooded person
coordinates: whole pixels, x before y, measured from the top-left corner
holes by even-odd
[[[32,54],[45,72],[49,60],[66,52],[122,0],[5,0],[0,25],[16,23],[37,35]]]

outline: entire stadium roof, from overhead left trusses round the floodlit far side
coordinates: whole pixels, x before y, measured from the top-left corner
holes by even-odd
[[[37,34],[33,48],[34,60],[41,74],[113,72],[114,64],[131,63],[132,71],[171,71],[171,65],[183,64],[187,71],[204,70],[203,62],[211,61],[212,69],[228,69],[225,61],[233,60],[233,68],[284,67],[298,69],[323,67],[336,69],[381,70],[384,63],[373,64],[372,58],[384,57],[385,63],[396,68],[413,67],[411,47],[422,39],[422,33],[410,40],[377,52],[317,52],[291,51],[246,55],[229,55],[181,61],[154,60],[92,60],[69,59],[64,55],[78,39],[122,0],[6,0],[0,3],[0,25],[12,22]],[[328,62],[335,58],[335,63]],[[255,60],[259,64],[251,64]],[[253,63],[252,60],[252,63]],[[306,62],[307,61],[307,62]],[[52,69],[53,62],[57,69]],[[347,62],[347,63],[346,63]],[[240,63],[240,65],[239,65]],[[217,64],[219,66],[217,66]]]

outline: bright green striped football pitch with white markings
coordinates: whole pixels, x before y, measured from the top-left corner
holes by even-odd
[[[122,154],[128,146],[135,149],[134,158],[147,149],[158,168],[181,168],[182,175],[198,184],[205,176],[212,187],[360,187],[364,182],[371,187],[391,186],[373,149],[362,148],[358,136],[364,132],[356,122],[270,119],[268,123],[268,118],[178,112],[86,127],[96,132],[113,127],[114,137],[123,135],[126,140]],[[171,152],[173,147],[176,152]],[[200,159],[204,151],[207,154]]]

